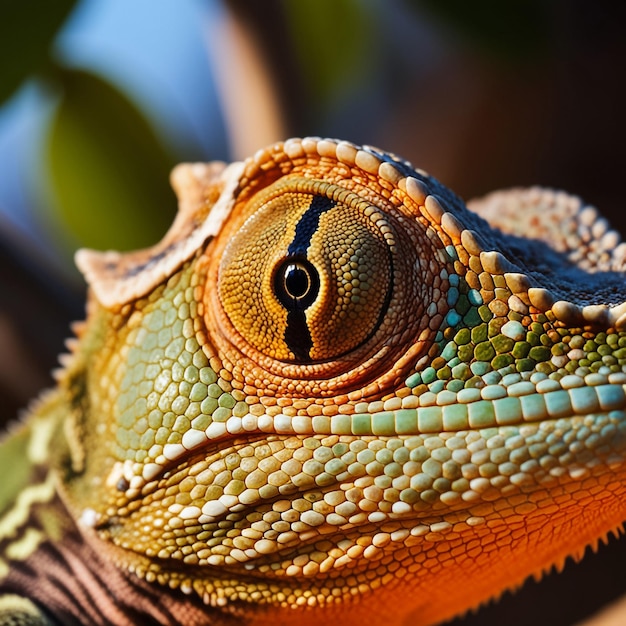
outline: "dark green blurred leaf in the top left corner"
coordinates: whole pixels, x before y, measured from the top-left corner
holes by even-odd
[[[76,0],[2,3],[0,103],[28,76],[45,69],[52,41]]]

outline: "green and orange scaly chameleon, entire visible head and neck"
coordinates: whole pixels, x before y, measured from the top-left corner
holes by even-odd
[[[626,520],[626,244],[290,139],[182,164],[0,447],[0,623],[436,624]]]

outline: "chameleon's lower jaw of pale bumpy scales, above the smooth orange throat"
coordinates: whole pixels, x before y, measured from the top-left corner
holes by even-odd
[[[568,484],[610,477],[623,468],[625,447],[617,411],[436,436],[238,438],[211,455],[198,449],[178,459],[115,519],[99,516],[92,527],[124,551],[158,557],[164,576],[175,578],[175,563],[183,562],[205,582],[229,571],[320,583],[320,576],[362,574],[395,550],[419,552],[424,541],[480,533],[500,519],[498,502],[539,514],[532,494],[570,493]],[[229,468],[235,457],[239,466]],[[209,498],[224,472],[230,482]],[[187,504],[164,496],[183,484],[205,496]]]

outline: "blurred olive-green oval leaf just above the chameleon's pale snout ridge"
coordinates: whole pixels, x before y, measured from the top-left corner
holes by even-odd
[[[61,69],[61,102],[48,137],[56,206],[80,245],[129,250],[158,241],[176,200],[175,159],[140,112],[112,85]]]

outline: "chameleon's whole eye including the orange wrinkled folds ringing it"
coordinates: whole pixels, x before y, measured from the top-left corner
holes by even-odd
[[[447,312],[442,242],[403,190],[251,174],[205,257],[206,331],[233,385],[326,397],[397,380]]]

